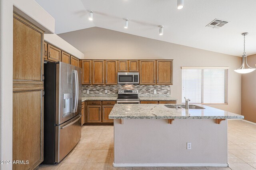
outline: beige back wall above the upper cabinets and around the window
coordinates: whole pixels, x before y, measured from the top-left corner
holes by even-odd
[[[182,92],[181,66],[229,66],[228,105],[211,106],[241,113],[241,74],[234,72],[234,69],[240,67],[240,57],[99,27],[58,35],[84,53],[86,59],[174,59],[171,96],[177,98],[178,103],[181,102]]]

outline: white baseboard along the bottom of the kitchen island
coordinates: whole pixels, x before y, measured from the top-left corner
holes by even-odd
[[[212,167],[228,167],[228,163],[226,164],[176,164],[176,163],[167,163],[167,164],[115,164],[113,162],[114,167],[161,167],[161,166],[212,166]]]

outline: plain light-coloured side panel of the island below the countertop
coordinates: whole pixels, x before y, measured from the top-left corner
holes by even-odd
[[[187,142],[192,149],[186,149]],[[228,166],[227,120],[114,120],[114,166]]]

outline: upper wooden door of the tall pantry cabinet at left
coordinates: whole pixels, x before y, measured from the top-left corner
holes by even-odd
[[[42,83],[44,33],[26,20],[13,18],[13,80]]]

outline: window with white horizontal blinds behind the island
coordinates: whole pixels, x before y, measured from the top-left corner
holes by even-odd
[[[182,103],[228,104],[228,67],[182,67]]]

